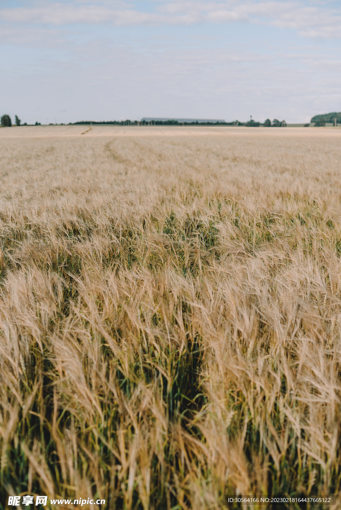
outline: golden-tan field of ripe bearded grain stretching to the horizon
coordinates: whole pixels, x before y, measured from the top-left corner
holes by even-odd
[[[0,130],[0,508],[340,507],[341,131],[87,130]]]

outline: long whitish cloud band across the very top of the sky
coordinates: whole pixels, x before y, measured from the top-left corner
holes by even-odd
[[[304,0],[205,0],[179,2],[155,0],[153,12],[143,1],[92,3],[74,0],[67,3],[26,2],[25,7],[0,9],[0,20],[13,23],[65,25],[70,23],[114,25],[231,23],[246,21],[291,28],[307,37],[339,37],[341,8]],[[150,4],[149,4],[150,5]]]

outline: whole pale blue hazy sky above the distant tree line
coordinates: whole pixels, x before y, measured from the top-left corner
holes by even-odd
[[[341,0],[0,0],[0,45],[22,122],[341,111]]]

